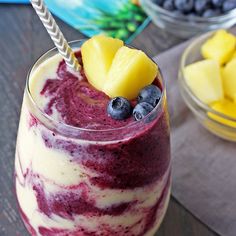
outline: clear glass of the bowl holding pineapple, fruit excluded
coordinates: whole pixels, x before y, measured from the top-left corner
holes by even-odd
[[[183,74],[185,66],[202,59],[201,46],[214,33],[215,32],[210,32],[196,38],[184,51],[178,74],[180,92],[186,105],[190,108],[201,125],[223,139],[236,142],[236,119],[217,112],[200,101],[187,85]],[[215,119],[213,119],[212,116],[214,116]],[[224,123],[219,122],[219,120],[223,120]],[[228,123],[231,125],[228,125]]]

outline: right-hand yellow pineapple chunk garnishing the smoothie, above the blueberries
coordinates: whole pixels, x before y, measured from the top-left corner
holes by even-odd
[[[121,47],[113,61],[103,88],[109,97],[134,99],[157,76],[157,65],[142,51]]]

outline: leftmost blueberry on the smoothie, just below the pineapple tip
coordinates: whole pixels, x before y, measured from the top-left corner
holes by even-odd
[[[126,98],[113,98],[107,106],[107,113],[115,120],[124,120],[132,113],[132,106]]]

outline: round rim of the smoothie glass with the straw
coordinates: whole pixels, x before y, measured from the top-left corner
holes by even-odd
[[[76,43],[83,43],[84,41],[86,41],[87,39],[79,39],[79,40],[73,40],[73,41],[69,41],[68,44],[71,46],[72,44],[76,44]],[[129,45],[128,45],[129,46]],[[73,46],[72,46],[73,48]],[[135,47],[132,47],[135,48]],[[56,51],[57,48],[53,47],[49,50],[47,50],[46,52],[44,52],[42,55],[40,55],[32,64],[32,66],[30,67],[30,69],[28,70],[27,76],[26,76],[26,85],[25,85],[25,91],[26,91],[26,95],[28,96],[30,103],[34,106],[34,108],[36,108],[36,110],[40,113],[40,115],[42,115],[42,117],[49,122],[52,122],[53,125],[56,125],[56,127],[63,127],[65,129],[68,129],[75,132],[112,132],[112,131],[120,131],[120,130],[124,130],[127,128],[131,128],[131,127],[135,127],[137,125],[139,125],[140,123],[142,123],[144,120],[148,119],[149,117],[151,117],[153,115],[153,113],[157,112],[158,109],[161,107],[161,105],[164,102],[164,98],[165,98],[165,94],[166,94],[166,84],[165,84],[165,80],[163,79],[163,75],[162,72],[158,66],[158,64],[153,60],[153,58],[149,57],[158,67],[158,75],[157,78],[160,80],[161,82],[161,86],[162,86],[162,95],[160,98],[160,101],[158,102],[158,104],[156,105],[156,107],[147,115],[145,116],[142,120],[139,121],[133,121],[128,125],[125,126],[121,126],[121,127],[117,127],[117,128],[108,128],[108,129],[91,129],[91,128],[81,128],[81,127],[76,127],[76,126],[72,126],[69,124],[66,124],[62,121],[58,121],[54,118],[52,118],[50,115],[48,115],[45,111],[43,111],[37,104],[37,102],[34,100],[31,91],[30,91],[30,78],[31,75],[35,69],[35,65],[37,63],[40,62],[40,60],[44,60],[44,57],[46,57],[48,54],[52,53],[53,51]],[[58,52],[59,53],[59,52]],[[55,54],[56,55],[56,54]],[[63,58],[62,58],[63,59]],[[40,62],[39,64],[41,64],[42,62]],[[158,118],[159,116],[157,116]],[[37,117],[38,118],[38,117]],[[40,120],[40,119],[39,119]]]

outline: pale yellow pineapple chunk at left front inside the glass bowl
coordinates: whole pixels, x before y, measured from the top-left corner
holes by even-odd
[[[192,92],[204,103],[221,100],[223,86],[220,66],[214,60],[203,60],[184,68],[184,77]]]

